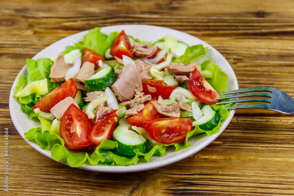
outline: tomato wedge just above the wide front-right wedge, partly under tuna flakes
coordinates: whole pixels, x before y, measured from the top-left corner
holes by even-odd
[[[163,115],[159,113],[153,106],[151,101],[146,102],[145,107],[136,115],[132,115],[126,118],[126,120],[133,126],[144,127],[146,120],[153,120],[162,118]]]

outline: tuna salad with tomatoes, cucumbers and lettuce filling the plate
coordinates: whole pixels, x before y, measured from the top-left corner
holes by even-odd
[[[51,58],[27,59],[14,96],[41,127],[25,138],[71,167],[134,165],[163,156],[168,146],[220,131],[226,105],[216,105],[228,76],[202,44],[166,35],[156,42],[90,30]]]

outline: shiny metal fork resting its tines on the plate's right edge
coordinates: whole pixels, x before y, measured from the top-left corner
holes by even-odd
[[[250,92],[260,92],[260,93],[250,93]],[[245,93],[245,94],[237,94]],[[245,98],[218,102],[216,104],[226,104],[226,103],[240,103],[240,102],[263,102],[263,103],[248,103],[243,105],[233,105],[225,107],[227,109],[244,109],[244,108],[259,108],[268,109],[284,114],[294,113],[294,100],[287,93],[272,87],[249,87],[243,88],[235,91],[229,91],[225,93],[220,93],[220,95],[237,94],[231,96],[223,96],[218,98],[231,99],[231,98],[243,98],[243,97],[259,97],[259,98]]]

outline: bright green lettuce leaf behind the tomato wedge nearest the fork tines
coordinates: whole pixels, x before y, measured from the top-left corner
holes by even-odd
[[[201,64],[201,70],[208,70],[213,73],[213,78],[206,78],[206,81],[216,90],[218,93],[225,92],[227,86],[228,75],[220,71],[220,67],[211,61],[204,61]]]

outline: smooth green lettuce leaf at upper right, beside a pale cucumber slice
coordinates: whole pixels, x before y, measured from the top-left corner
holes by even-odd
[[[173,62],[187,64],[195,58],[205,56],[205,48],[202,44],[194,45],[186,48],[185,53],[182,56],[176,58]]]

